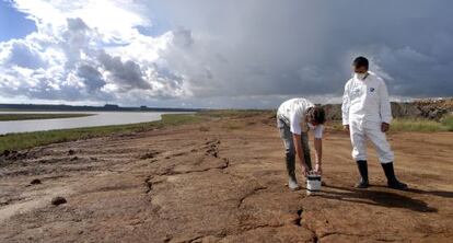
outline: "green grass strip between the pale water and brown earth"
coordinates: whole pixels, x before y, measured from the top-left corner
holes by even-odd
[[[154,128],[197,123],[201,119],[202,117],[197,114],[164,114],[161,120],[151,123],[8,134],[0,136],[0,153],[4,150],[16,151],[56,142],[82,140],[114,134],[146,131]]]

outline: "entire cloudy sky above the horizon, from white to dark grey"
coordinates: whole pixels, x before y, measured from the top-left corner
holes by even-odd
[[[453,96],[450,0],[0,0],[0,103],[338,103],[365,56],[393,100]]]

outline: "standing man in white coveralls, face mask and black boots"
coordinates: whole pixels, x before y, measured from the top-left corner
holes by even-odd
[[[395,176],[394,154],[385,137],[392,120],[387,86],[380,77],[368,70],[367,58],[356,58],[352,66],[355,76],[345,85],[341,112],[344,129],[350,134],[352,158],[361,176],[356,187],[369,186],[367,139],[370,139],[378,151],[388,187],[407,189],[407,185]]]

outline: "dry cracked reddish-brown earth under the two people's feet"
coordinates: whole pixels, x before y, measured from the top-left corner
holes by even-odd
[[[0,162],[0,242],[453,242],[453,132],[390,140],[408,192],[371,151],[373,186],[353,189],[332,130],[323,192],[289,192],[268,114],[35,148]]]

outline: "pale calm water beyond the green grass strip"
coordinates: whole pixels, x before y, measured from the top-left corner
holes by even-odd
[[[150,112],[0,112],[0,114],[94,114],[86,117],[0,121],[0,135],[39,130],[137,124],[160,120]]]

